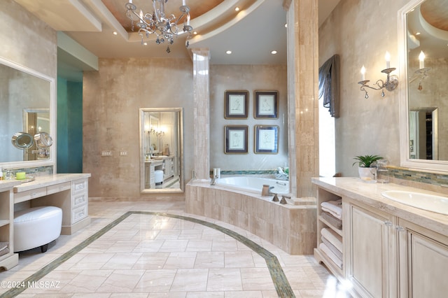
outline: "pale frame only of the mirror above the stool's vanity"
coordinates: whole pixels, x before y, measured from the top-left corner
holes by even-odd
[[[46,76],[43,73],[39,73],[34,69],[29,69],[28,67],[22,66],[15,62],[12,62],[8,59],[0,57],[0,64],[9,66],[18,71],[22,71],[24,73],[28,73],[31,76],[35,76],[37,78],[41,78],[42,80],[48,81],[50,83],[50,135],[53,139],[53,146],[49,148],[50,158],[48,159],[38,159],[38,160],[25,160],[20,162],[1,162],[0,166],[3,169],[16,169],[16,168],[31,168],[36,166],[53,166],[53,172],[56,167],[56,86],[55,86],[55,78],[51,78],[50,76]],[[25,107],[28,108],[28,107]],[[25,109],[24,108],[24,109]],[[15,134],[16,132],[14,132]],[[12,135],[11,135],[12,136]],[[12,144],[11,144],[12,146]]]

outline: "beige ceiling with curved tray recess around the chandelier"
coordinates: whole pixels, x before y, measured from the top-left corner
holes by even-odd
[[[130,0],[15,1],[97,57],[190,57],[185,46],[187,34],[174,38],[169,53],[167,43],[155,43],[154,34],[144,38],[148,45],[142,45],[138,27],[131,31],[126,17],[125,4]],[[338,2],[319,0],[319,22]],[[151,0],[133,3],[138,11],[153,12]],[[182,0],[167,1],[166,14],[178,17],[181,5]],[[190,7],[190,24],[197,32],[189,48],[208,48],[211,64],[286,64],[283,0],[186,0],[186,5]],[[226,54],[227,50],[232,54]],[[277,54],[272,55],[272,50]]]

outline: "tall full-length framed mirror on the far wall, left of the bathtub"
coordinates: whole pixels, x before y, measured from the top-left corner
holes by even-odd
[[[141,192],[183,192],[182,108],[140,109]]]

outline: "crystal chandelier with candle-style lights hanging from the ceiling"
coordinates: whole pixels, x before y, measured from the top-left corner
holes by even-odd
[[[134,31],[134,20],[137,21],[141,43],[144,43],[144,36],[149,37],[149,34],[155,34],[157,36],[155,43],[160,44],[167,41],[169,45],[172,45],[174,43],[174,36],[188,32],[186,42],[186,47],[188,48],[188,39],[191,38],[193,27],[190,26],[190,8],[186,5],[186,0],[182,0],[182,6],[179,8],[181,10],[181,16],[178,18],[175,15],[165,15],[165,3],[168,0],[152,1],[153,13],[144,13],[142,10],[140,10],[140,13],[137,13],[137,6],[132,3],[132,0],[126,3],[126,15],[131,20],[131,29]],[[182,23],[183,29],[181,31],[178,25]],[[169,45],[167,47],[168,53],[171,52]]]

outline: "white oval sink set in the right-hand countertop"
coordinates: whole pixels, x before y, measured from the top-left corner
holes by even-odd
[[[448,215],[448,197],[403,190],[386,190],[381,194],[387,199],[398,201],[408,206]]]

